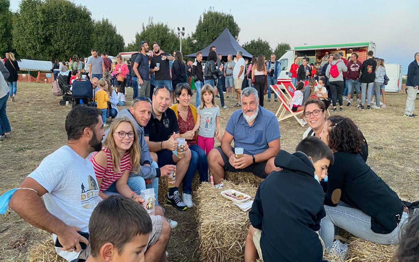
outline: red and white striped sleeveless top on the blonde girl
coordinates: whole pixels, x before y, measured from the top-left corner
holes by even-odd
[[[100,166],[96,162],[95,156],[98,152],[94,152],[89,158],[89,160],[93,164],[93,169],[95,170],[96,179],[102,179],[102,184],[100,184],[101,192],[108,189],[112,183],[114,183],[116,180],[118,180],[122,176],[122,174],[124,174],[125,171],[131,171],[132,169],[132,165],[129,159],[129,153],[127,152],[122,157],[121,163],[119,164],[119,169],[121,169],[121,171],[119,173],[115,173],[114,164],[112,163],[111,151],[106,147],[103,147],[102,150],[105,151],[106,157],[108,159],[108,164],[106,168],[103,166]]]

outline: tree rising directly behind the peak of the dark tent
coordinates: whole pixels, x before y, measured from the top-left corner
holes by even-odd
[[[196,41],[193,52],[197,52],[211,44],[226,27],[233,37],[238,40],[240,27],[234,21],[232,14],[217,12],[213,7],[205,11],[202,16],[199,16],[195,32],[192,33],[192,39]]]

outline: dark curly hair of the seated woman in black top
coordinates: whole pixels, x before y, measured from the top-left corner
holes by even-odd
[[[329,117],[329,148],[336,152],[361,153],[362,135],[357,125],[348,117]]]

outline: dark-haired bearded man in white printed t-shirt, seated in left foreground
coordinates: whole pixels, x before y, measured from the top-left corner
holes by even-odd
[[[79,242],[89,242],[77,232],[88,231],[89,218],[103,194],[87,159],[101,150],[102,126],[98,109],[82,105],[72,109],[65,119],[67,145],[44,158],[9,202],[28,223],[52,232],[54,241],[58,238],[63,246],[55,249],[57,254],[68,261],[85,255]]]

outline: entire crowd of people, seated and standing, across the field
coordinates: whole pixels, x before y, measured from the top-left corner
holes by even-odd
[[[281,150],[277,118],[263,107],[266,93],[268,102],[271,99],[268,86],[276,84],[281,70],[274,55],[267,62],[263,55],[253,57],[248,66],[238,51],[236,62],[229,55],[223,65],[222,57],[211,47],[203,67],[201,52],[186,65],[180,51],[172,56],[163,52],[158,43],[153,43],[153,51],[156,55],[149,59],[148,43],[143,41],[131,70],[120,56],[112,68],[106,54],[99,57],[94,49],[87,63],[81,63],[83,66],[77,56],[72,58],[74,75],[88,75],[91,80],[96,106],[78,105],[70,110],[65,120],[67,145],[44,158],[9,202],[10,208],[28,223],[53,233],[54,240],[62,245],[56,247],[61,257],[67,261],[113,261],[131,252],[139,261],[168,261],[166,246],[171,229],[178,223],[166,218],[158,204],[164,201],[158,199],[159,180],[168,176],[175,179],[165,201],[186,211],[194,206],[192,179],[197,171],[200,182],[208,182],[210,173],[215,184],[222,182],[225,171],[251,172],[264,179],[249,213],[246,262],[258,258],[265,262],[320,262],[324,252],[344,257],[348,246],[335,239],[336,228],[378,244],[401,242],[400,261],[406,251],[414,250],[403,244],[406,240],[400,239],[399,233],[403,228],[417,227],[413,221],[418,215],[413,215],[418,202],[401,201],[366,164],[367,141],[351,119],[339,115],[326,118],[330,104],[336,111],[339,103],[342,110],[345,85],[351,86],[350,106],[355,82],[358,89],[359,82],[362,85],[361,109],[365,105],[364,91],[372,87],[375,106],[380,106],[383,60],[376,61],[368,53],[369,59],[361,65],[354,53],[351,61],[344,63],[339,54],[334,54],[322,62],[323,66],[320,63],[311,68],[306,58],[302,65],[293,65],[296,91],[290,105],[293,111],[303,110],[309,127],[296,152],[288,153]],[[419,53],[415,60],[409,65],[408,92],[417,91],[419,84]],[[61,70],[57,62],[54,72]],[[8,70],[2,65],[0,62],[0,75],[8,79]],[[137,83],[137,93],[129,108],[119,111],[118,106],[125,104],[129,72],[131,82]],[[112,75],[116,91],[112,89]],[[348,85],[345,83],[348,77],[350,85],[349,80]],[[194,92],[189,79],[197,88],[195,106],[191,104]],[[307,86],[303,81],[306,79]],[[236,106],[240,107],[228,119],[224,133],[220,107],[215,102],[218,96],[221,107],[227,108],[223,81],[226,94],[227,88],[233,88]],[[228,91],[233,94],[231,89]],[[3,93],[7,101],[5,81],[0,78],[0,101]],[[413,108],[408,101],[412,112],[414,100]],[[5,102],[4,111],[1,104],[0,109],[3,136],[7,138],[10,125]],[[111,122],[105,132],[107,117]],[[215,139],[220,142],[217,148]],[[243,148],[240,158],[231,146],[233,141],[235,148]],[[145,200],[140,192],[150,188],[155,193],[154,215],[142,208]],[[80,231],[89,232],[89,239]],[[88,248],[82,249],[80,242],[88,244]],[[118,252],[111,252],[114,249]],[[109,258],[112,254],[115,257]]]

